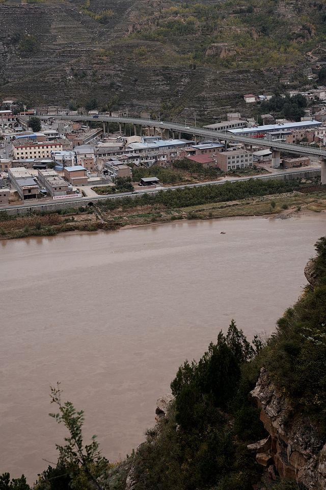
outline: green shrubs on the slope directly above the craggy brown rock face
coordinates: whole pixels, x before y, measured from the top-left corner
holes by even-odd
[[[326,239],[315,244],[315,284],[278,321],[268,341],[267,370],[299,414],[326,433]]]

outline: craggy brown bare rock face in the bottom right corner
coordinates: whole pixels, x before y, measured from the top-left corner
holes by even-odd
[[[309,490],[326,488],[326,444],[317,430],[296,417],[286,397],[279,393],[262,368],[259,380],[251,391],[261,409],[268,437],[251,444],[258,463],[268,468],[273,477],[292,478]]]

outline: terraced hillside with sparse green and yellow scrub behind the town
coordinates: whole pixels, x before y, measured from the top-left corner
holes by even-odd
[[[323,0],[0,0],[0,96],[207,119],[304,84],[325,19]]]

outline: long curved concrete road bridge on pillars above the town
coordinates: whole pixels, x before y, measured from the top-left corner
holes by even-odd
[[[270,148],[272,152],[272,166],[280,166],[280,152],[287,152],[294,155],[307,155],[312,158],[321,160],[321,183],[326,184],[326,149],[311,148],[309,145],[283,143],[281,141],[267,141],[264,138],[252,138],[250,136],[234,135],[228,131],[213,131],[206,128],[197,128],[196,126],[186,126],[186,124],[180,124],[178,122],[158,121],[156,119],[145,119],[137,117],[116,117],[108,116],[106,114],[98,115],[77,115],[77,116],[40,116],[41,119],[60,119],[69,121],[93,121],[103,122],[103,130],[105,131],[106,125],[110,122],[116,122],[119,124],[120,133],[122,133],[122,125],[132,124],[134,127],[134,134],[137,134],[137,127],[153,127],[155,130],[159,129],[161,134],[163,130],[168,130],[173,133],[178,133],[179,137],[181,133],[187,133],[189,135],[201,136],[212,140],[232,141],[244,143],[247,146],[253,145],[265,146]]]

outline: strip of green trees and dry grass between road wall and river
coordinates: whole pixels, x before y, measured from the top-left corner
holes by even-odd
[[[123,183],[121,185],[127,185]],[[24,216],[0,212],[0,239],[51,236],[72,231],[115,230],[123,226],[169,223],[326,209],[326,191],[301,193],[298,180],[248,180],[107,199],[93,206]],[[311,185],[311,184],[309,184]],[[322,188],[321,188],[322,189]]]

